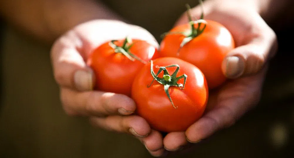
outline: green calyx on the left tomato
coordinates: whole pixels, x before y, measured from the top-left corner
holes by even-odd
[[[112,41],[109,42],[109,46],[111,46],[111,48],[113,48],[116,53],[121,53],[121,54],[125,55],[131,61],[138,60],[141,63],[146,64],[146,61],[143,61],[141,58],[139,58],[138,56],[132,54],[129,51],[129,49],[135,44],[135,43],[132,42],[131,38],[126,37],[126,39],[123,41],[122,46],[118,46],[118,45],[114,44],[114,42],[116,42],[116,41],[118,41],[118,40],[112,40]]]

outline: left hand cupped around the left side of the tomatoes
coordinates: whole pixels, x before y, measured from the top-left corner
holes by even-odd
[[[124,39],[126,36],[158,46],[154,37],[145,29],[110,20],[94,20],[78,25],[54,43],[51,61],[54,77],[60,87],[61,102],[64,111],[70,116],[89,117],[93,125],[133,134],[148,149],[163,150],[162,138],[159,139],[159,147],[153,145],[156,144],[154,141],[158,141],[153,137],[160,136],[159,132],[151,131],[145,119],[131,115],[136,109],[131,98],[123,94],[93,90],[95,77],[85,63],[89,54],[106,41]]]

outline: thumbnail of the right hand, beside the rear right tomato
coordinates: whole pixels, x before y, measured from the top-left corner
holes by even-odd
[[[238,56],[229,56],[223,61],[222,69],[228,78],[236,78],[243,74],[245,63]]]

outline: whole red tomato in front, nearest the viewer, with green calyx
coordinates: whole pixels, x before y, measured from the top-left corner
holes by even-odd
[[[165,73],[159,71],[162,68],[166,69]],[[160,73],[156,77],[158,71]],[[146,119],[153,129],[161,132],[185,131],[203,115],[208,86],[201,70],[193,64],[164,57],[149,62],[141,69],[133,82],[132,98],[137,105],[136,113]]]

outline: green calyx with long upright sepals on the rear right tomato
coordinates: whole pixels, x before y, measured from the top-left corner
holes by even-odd
[[[201,14],[200,19],[197,19],[196,21],[193,21],[193,19],[191,17],[191,7],[190,7],[190,5],[189,4],[186,4],[186,7],[187,7],[187,15],[188,15],[188,19],[189,19],[189,25],[191,26],[191,29],[190,30],[182,31],[182,32],[166,32],[166,33],[164,33],[164,34],[161,35],[162,38],[164,38],[166,35],[169,35],[169,34],[182,34],[183,36],[185,36],[185,38],[182,40],[182,42],[180,44],[180,48],[178,49],[177,55],[179,55],[179,51],[181,50],[181,48],[183,46],[185,46],[192,39],[194,39],[197,36],[199,36],[200,34],[202,34],[203,31],[204,31],[204,29],[206,28],[207,22],[203,19],[203,17],[204,17],[204,9],[203,9],[203,2],[202,2],[202,0],[199,0],[199,3],[201,5],[202,14]],[[195,26],[196,24],[198,24],[197,27]],[[204,24],[204,26],[203,26],[202,29],[201,29],[201,24]]]

